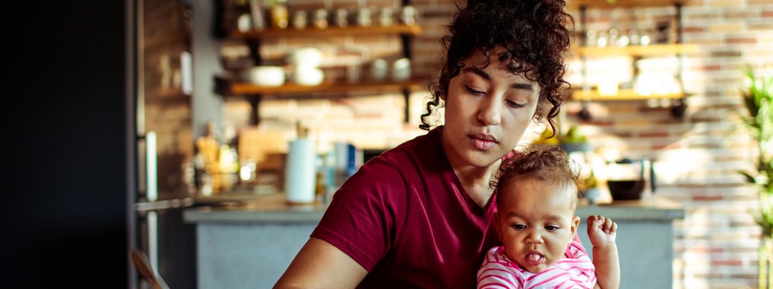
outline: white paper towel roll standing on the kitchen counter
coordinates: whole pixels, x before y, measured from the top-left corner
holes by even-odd
[[[284,190],[288,203],[314,203],[315,198],[314,143],[310,139],[290,142],[287,166],[284,173]]]

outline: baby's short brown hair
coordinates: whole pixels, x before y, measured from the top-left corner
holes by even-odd
[[[547,144],[532,144],[520,146],[517,153],[502,160],[498,176],[492,178],[489,187],[496,193],[497,200],[502,192],[518,183],[519,180],[539,180],[543,183],[555,184],[561,187],[574,187],[574,198],[571,207],[574,210],[579,200],[579,166],[570,159],[567,153],[558,146]],[[499,203],[498,203],[499,204]]]

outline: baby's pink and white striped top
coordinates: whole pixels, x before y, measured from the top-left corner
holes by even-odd
[[[523,270],[505,255],[502,246],[489,250],[478,270],[478,289],[575,289],[593,288],[594,284],[593,262],[576,237],[567,247],[564,258],[540,273]]]

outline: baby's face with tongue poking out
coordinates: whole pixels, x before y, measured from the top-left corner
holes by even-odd
[[[518,180],[502,191],[497,233],[510,260],[538,273],[564,257],[580,218],[574,216],[574,187]]]

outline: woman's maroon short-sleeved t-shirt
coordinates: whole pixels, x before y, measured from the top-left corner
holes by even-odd
[[[369,274],[363,288],[475,288],[499,245],[495,201],[481,208],[461,186],[433,129],[369,160],[338,190],[312,237]]]

